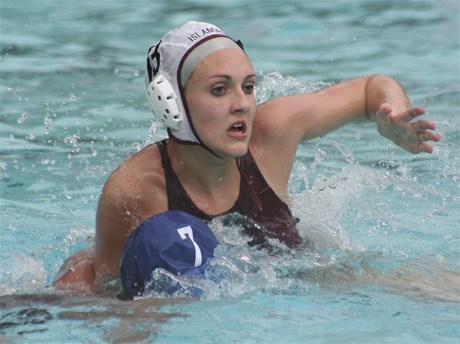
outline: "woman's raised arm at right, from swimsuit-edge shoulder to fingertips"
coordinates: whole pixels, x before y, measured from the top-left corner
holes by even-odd
[[[257,107],[251,151],[270,186],[287,194],[295,154],[302,141],[325,135],[350,122],[375,121],[377,131],[411,153],[433,151],[435,124],[414,119],[403,87],[383,75],[362,76],[317,92],[269,100]]]

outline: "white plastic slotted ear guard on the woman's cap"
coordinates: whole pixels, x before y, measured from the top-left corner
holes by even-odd
[[[147,102],[155,118],[166,127],[177,130],[182,121],[180,103],[171,83],[158,74],[147,86]]]

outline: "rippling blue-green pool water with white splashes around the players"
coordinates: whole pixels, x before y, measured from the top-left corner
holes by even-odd
[[[0,6],[2,343],[459,340],[458,1]],[[56,293],[62,261],[93,246],[111,171],[165,135],[145,104],[145,53],[190,19],[244,42],[259,101],[384,73],[443,140],[432,155],[410,155],[369,123],[303,144],[290,191],[318,249],[273,257],[217,220],[213,267],[225,278],[201,286],[199,302]]]

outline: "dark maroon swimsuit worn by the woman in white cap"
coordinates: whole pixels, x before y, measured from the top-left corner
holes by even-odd
[[[200,210],[191,200],[179,178],[174,173],[166,150],[167,139],[156,143],[160,149],[161,160],[166,178],[168,193],[168,209],[183,210],[205,221],[216,216],[210,216]],[[296,229],[295,219],[286,203],[275,194],[259,171],[251,152],[237,159],[241,174],[240,193],[231,209],[224,214],[239,213],[251,219],[246,224],[246,234],[253,239],[253,245],[264,245],[265,238],[278,239],[288,247],[295,248],[302,243],[302,238]]]

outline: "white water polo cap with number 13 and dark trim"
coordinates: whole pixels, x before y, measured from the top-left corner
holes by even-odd
[[[165,34],[148,52],[147,102],[169,136],[181,143],[201,144],[185,100],[184,86],[195,67],[221,49],[243,50],[217,26],[189,21]]]

